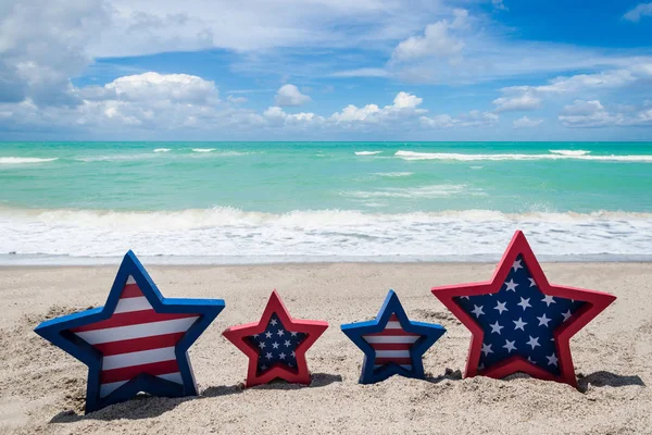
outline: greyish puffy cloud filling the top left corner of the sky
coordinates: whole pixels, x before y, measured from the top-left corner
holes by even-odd
[[[100,0],[0,2],[0,102],[78,103],[68,77],[91,62],[108,16]]]

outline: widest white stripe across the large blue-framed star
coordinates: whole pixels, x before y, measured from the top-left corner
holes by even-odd
[[[152,337],[154,335],[185,333],[199,316],[142,323],[139,325],[108,327],[104,330],[75,333],[89,345],[122,341],[131,338]]]

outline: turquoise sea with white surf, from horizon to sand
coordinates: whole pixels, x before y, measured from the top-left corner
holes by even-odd
[[[0,262],[652,258],[652,142],[0,142]]]

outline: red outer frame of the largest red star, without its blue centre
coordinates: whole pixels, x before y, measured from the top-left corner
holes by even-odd
[[[485,340],[485,331],[468,310],[455,301],[461,297],[474,297],[478,295],[497,294],[501,290],[503,283],[507,278],[513,264],[517,258],[523,259],[531,277],[539,290],[546,296],[570,299],[584,302],[581,307],[574,312],[568,320],[564,321],[553,332],[554,346],[559,356],[560,374],[555,376],[550,372],[530,363],[526,358],[513,355],[502,361],[499,361],[484,370],[478,369],[480,352]],[[573,359],[570,356],[570,338],[586,326],[593,318],[600,314],[609,307],[616,297],[602,291],[593,291],[575,287],[551,285],[537,258],[535,257],[525,235],[517,231],[502,257],[493,276],[490,281],[474,284],[460,284],[452,286],[435,287],[432,294],[471,331],[472,340],[466,360],[465,376],[484,375],[494,378],[502,378],[516,372],[523,372],[530,376],[563,382],[577,387]]]

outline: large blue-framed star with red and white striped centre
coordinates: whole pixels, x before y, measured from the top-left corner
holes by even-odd
[[[104,307],[49,320],[35,332],[88,365],[88,413],[140,391],[196,396],[187,350],[223,309],[221,299],[164,298],[129,251]]]

